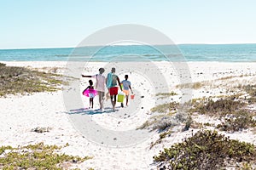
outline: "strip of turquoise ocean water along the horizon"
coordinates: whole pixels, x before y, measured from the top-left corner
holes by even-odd
[[[0,49],[2,61],[222,61],[255,62],[256,44],[127,45],[84,48]]]

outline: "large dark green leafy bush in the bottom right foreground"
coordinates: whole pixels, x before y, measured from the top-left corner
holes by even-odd
[[[216,131],[199,131],[183,142],[160,151],[154,161],[162,169],[224,169],[236,162],[256,163],[253,144],[240,142]]]

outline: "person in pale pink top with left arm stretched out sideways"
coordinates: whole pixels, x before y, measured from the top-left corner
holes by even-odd
[[[84,76],[82,77],[92,77],[96,78],[96,90],[99,95],[99,103],[100,103],[100,109],[103,109],[103,101],[104,101],[104,95],[105,95],[105,77],[102,75],[105,71],[104,68],[99,69],[100,73],[96,74],[95,76]]]

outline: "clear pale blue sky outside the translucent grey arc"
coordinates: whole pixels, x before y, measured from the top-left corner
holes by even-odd
[[[175,43],[256,43],[255,0],[0,1],[0,48],[75,47],[107,26],[140,24]]]

